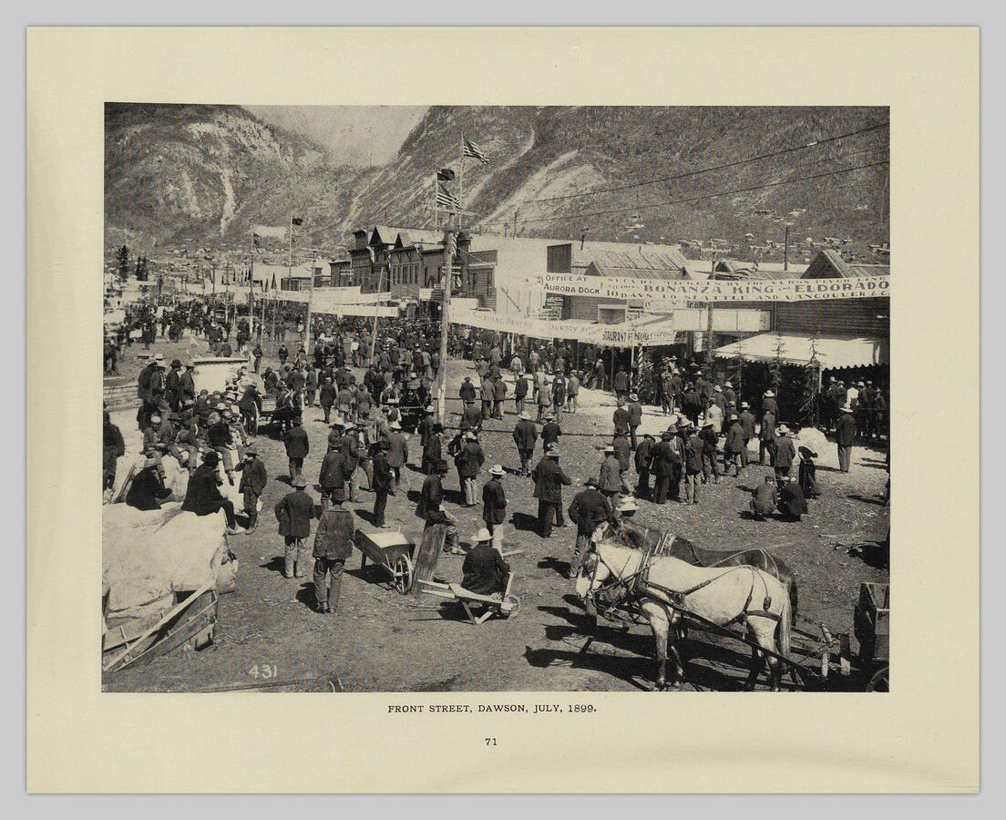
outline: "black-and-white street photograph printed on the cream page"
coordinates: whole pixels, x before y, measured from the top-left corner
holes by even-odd
[[[103,691],[887,692],[889,132],[106,101]]]

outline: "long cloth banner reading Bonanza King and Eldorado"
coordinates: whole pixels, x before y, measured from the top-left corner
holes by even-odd
[[[803,302],[890,297],[889,276],[720,282],[546,274],[541,281],[547,292],[563,296],[643,300],[648,303],[654,300],[672,303]]]

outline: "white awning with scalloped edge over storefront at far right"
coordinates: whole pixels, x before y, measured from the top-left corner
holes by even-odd
[[[888,361],[887,340],[870,336],[811,337],[798,333],[760,333],[758,336],[717,347],[715,352],[719,358],[743,356],[756,361],[772,361],[780,348],[780,357],[787,364],[808,364],[812,353],[816,353],[817,360],[826,370],[866,367]]]

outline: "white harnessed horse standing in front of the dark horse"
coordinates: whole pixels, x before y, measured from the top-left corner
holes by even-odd
[[[760,647],[776,655],[790,655],[790,596],[779,579],[753,566],[693,566],[679,558],[656,556],[644,566],[638,549],[600,543],[584,560],[576,579],[576,595],[593,611],[594,597],[614,594],[616,600],[639,603],[657,644],[657,688],[666,686],[668,638],[675,661],[675,685],[684,679],[681,656],[675,643],[680,637],[682,610],[717,626],[739,622]],[[607,592],[603,592],[607,591]],[[680,608],[680,609],[679,609]],[[744,688],[752,689],[768,658],[772,690],[781,688],[783,669],[779,658],[758,649],[751,653],[750,673]]]

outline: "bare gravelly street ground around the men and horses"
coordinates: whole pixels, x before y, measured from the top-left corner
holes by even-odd
[[[204,347],[204,342],[196,343]],[[190,343],[159,340],[155,350],[170,362],[175,356],[184,359]],[[137,354],[146,352],[142,345],[129,349],[120,368],[124,378],[135,377]],[[457,395],[457,386],[472,371],[472,364],[451,361],[448,366],[450,393]],[[599,448],[611,431],[610,394],[584,391],[580,403],[580,412],[564,416],[561,423],[566,435],[560,465],[572,480],[565,505],[588,476],[597,475]],[[135,424],[133,418],[132,413],[117,414],[124,427]],[[510,401],[504,421],[486,423],[481,440],[487,469],[494,463],[508,470],[519,465],[511,439],[515,422]],[[661,414],[648,412],[643,429],[659,431],[665,424]],[[304,427],[311,440],[305,476],[313,482],[328,435],[319,408],[306,412]],[[504,543],[507,549],[523,550],[510,558],[516,573],[514,591],[521,600],[515,617],[472,626],[457,605],[396,594],[379,567],[368,562],[365,569],[359,568],[358,554],[347,562],[339,615],[315,613],[310,570],[307,579],[287,580],[282,575],[284,545],[273,507],[290,491],[284,448],[266,437],[260,437],[259,444],[270,476],[265,506],[255,533],[230,538],[240,561],[237,590],[220,599],[215,642],[198,652],[178,650],[146,667],[123,670],[106,682],[108,689],[193,691],[268,682],[290,691],[328,689],[327,681],[346,691],[631,691],[652,686],[654,646],[645,624],[627,629],[603,622],[590,652],[578,655],[586,639],[584,620],[572,582],[563,576],[574,530],[567,526],[556,529],[551,538],[539,537],[533,485],[509,472],[503,480],[509,502]],[[412,463],[404,472],[404,486],[388,501],[387,523],[417,542],[422,522],[413,510],[423,475],[416,466],[417,440],[410,445]],[[834,470],[834,446],[828,447],[827,452],[819,450],[822,496],[810,502],[810,513],[799,523],[756,521],[746,515],[750,491],[771,469],[757,465],[739,478],[704,486],[699,505],[639,501],[636,518],[706,548],[760,546],[772,551],[797,572],[800,613],[808,619],[801,621],[802,628],[818,632],[813,622],[836,634],[849,631],[860,583],[888,580],[885,568],[851,556],[844,548],[887,532],[889,510],[880,498],[887,473],[883,453],[857,447],[852,470],[843,475]],[[540,451],[535,461],[539,456]],[[445,487],[461,523],[462,541],[467,542],[481,525],[481,505],[457,506],[460,489],[453,469]],[[316,490],[309,491],[317,498]],[[374,529],[372,494],[364,491],[360,503],[348,506],[362,529]],[[462,560],[443,555],[438,577],[460,581]],[[691,686],[739,688],[748,658],[745,647],[693,631],[685,650]]]

